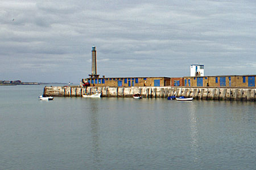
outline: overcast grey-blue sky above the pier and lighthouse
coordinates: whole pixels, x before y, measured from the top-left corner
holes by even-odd
[[[0,80],[256,74],[255,0],[1,0]]]

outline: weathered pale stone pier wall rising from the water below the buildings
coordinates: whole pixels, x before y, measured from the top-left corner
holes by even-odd
[[[185,96],[203,100],[245,100],[256,101],[256,88],[218,87],[44,87],[44,95],[81,97],[85,92],[102,92],[102,97],[133,97],[141,94],[146,98]]]

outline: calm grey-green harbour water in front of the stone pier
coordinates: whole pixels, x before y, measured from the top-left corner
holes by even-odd
[[[256,103],[39,101],[0,86],[0,169],[256,169]]]

